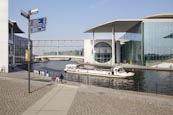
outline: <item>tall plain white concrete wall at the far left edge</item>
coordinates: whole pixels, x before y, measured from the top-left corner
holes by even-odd
[[[8,0],[0,0],[0,66],[8,72]]]

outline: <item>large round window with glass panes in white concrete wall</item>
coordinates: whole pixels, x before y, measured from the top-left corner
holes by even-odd
[[[112,58],[112,48],[105,42],[99,42],[94,46],[95,61],[105,63]]]

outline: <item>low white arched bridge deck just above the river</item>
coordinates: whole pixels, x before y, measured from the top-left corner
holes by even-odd
[[[43,55],[34,56],[34,60],[72,60],[72,61],[84,61],[83,56],[70,56],[70,55]]]

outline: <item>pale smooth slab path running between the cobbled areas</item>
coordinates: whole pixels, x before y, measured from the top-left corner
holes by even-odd
[[[78,86],[57,84],[22,115],[67,115]]]

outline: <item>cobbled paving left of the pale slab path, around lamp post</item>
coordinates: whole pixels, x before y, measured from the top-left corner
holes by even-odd
[[[27,72],[0,73],[0,115],[20,115],[54,87],[50,78],[31,77],[29,94]]]

